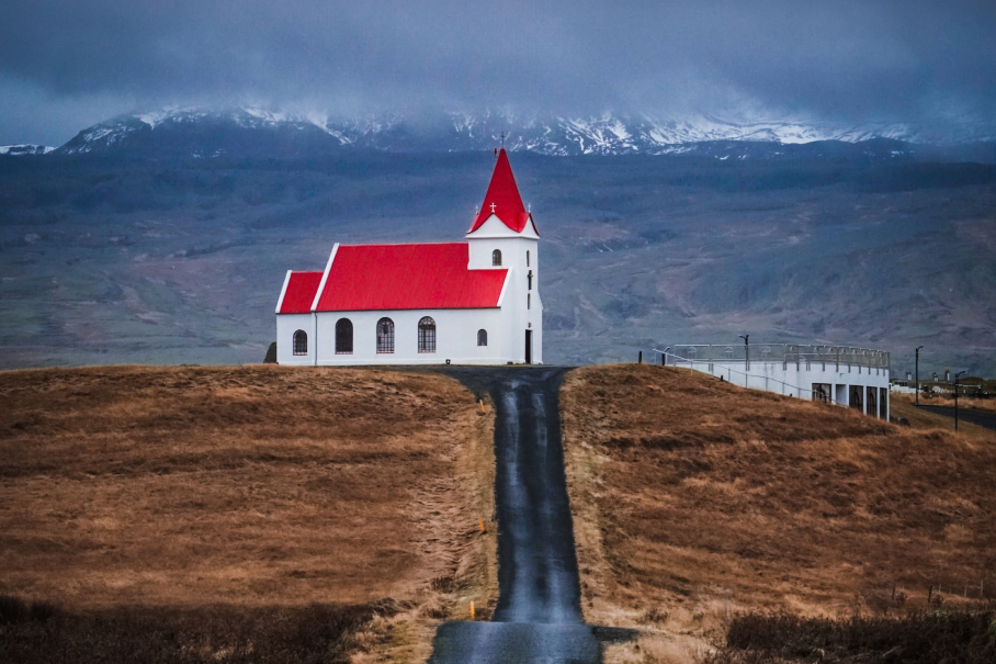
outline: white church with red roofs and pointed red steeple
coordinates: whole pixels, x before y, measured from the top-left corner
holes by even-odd
[[[288,271],[276,361],[542,363],[540,234],[505,148],[496,156],[465,241],[336,244],[324,271]]]

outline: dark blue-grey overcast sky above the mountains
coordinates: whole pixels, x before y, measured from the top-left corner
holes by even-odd
[[[166,105],[996,116],[996,0],[0,0],[0,145]]]

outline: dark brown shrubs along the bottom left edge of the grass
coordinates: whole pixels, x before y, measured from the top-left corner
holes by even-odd
[[[0,596],[0,662],[346,664],[355,634],[392,604],[58,611]]]

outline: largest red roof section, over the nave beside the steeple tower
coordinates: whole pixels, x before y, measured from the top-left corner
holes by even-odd
[[[466,243],[340,245],[319,312],[498,306],[508,270],[468,270]]]

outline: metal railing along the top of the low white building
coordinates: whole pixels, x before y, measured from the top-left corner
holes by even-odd
[[[720,362],[723,364],[742,362],[745,368],[749,362],[781,362],[784,364],[813,363],[840,367],[868,367],[869,369],[889,369],[889,352],[871,348],[852,346],[814,346],[802,344],[751,344],[748,348],[742,344],[678,344],[668,347],[668,354],[676,359],[692,362]],[[660,351],[657,351],[660,352]]]

